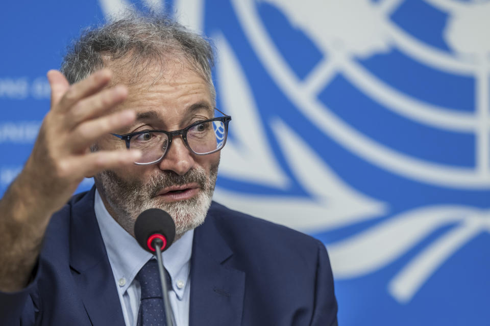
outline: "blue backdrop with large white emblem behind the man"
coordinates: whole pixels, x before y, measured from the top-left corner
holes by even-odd
[[[130,5],[0,5],[0,195],[49,108],[46,71]],[[215,199],[324,241],[341,325],[490,323],[488,1],[133,6],[213,39],[233,116]]]

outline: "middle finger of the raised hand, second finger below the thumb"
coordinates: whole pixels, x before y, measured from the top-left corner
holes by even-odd
[[[69,111],[65,125],[73,128],[85,120],[101,117],[110,108],[124,101],[127,95],[128,89],[118,85],[84,98]]]

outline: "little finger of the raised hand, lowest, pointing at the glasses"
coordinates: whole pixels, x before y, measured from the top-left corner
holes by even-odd
[[[71,171],[76,171],[77,178],[82,178],[104,170],[132,166],[140,157],[139,150],[97,151],[72,157],[66,164]]]

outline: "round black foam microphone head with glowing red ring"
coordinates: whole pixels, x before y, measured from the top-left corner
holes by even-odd
[[[134,223],[134,236],[139,245],[150,253],[155,253],[154,240],[163,241],[162,252],[170,247],[175,238],[174,219],[164,210],[150,208],[139,214]]]

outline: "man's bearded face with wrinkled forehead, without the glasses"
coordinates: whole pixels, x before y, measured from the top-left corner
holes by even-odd
[[[137,120],[119,134],[157,129],[173,131],[213,117],[213,102],[206,80],[181,62],[168,64],[163,76],[149,69],[141,80],[128,86],[127,100],[116,110],[131,109]],[[126,76],[115,82],[125,83]],[[99,141],[99,150],[125,147],[112,135]],[[95,184],[113,218],[130,234],[145,209],[157,207],[174,218],[177,236],[204,222],[214,191],[219,152],[195,155],[181,137],[171,143],[165,157],[150,166],[104,171]]]

